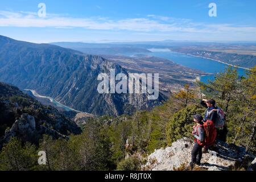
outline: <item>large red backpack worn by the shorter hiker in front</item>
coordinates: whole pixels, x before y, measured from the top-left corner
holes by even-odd
[[[210,120],[207,120],[204,122],[204,125],[200,125],[199,127],[202,127],[204,129],[204,141],[201,142],[199,139],[195,139],[195,141],[200,145],[200,146],[212,146],[216,140],[217,137],[217,130],[216,127],[214,126],[214,123]],[[198,128],[196,129],[196,133],[198,135]]]

